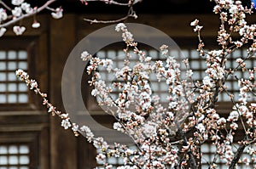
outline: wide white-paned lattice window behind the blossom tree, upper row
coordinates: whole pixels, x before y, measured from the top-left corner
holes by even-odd
[[[165,59],[164,56],[162,56],[157,50],[151,49],[146,50],[146,53],[152,57],[153,61],[157,59]],[[181,57],[181,59],[185,59],[187,57],[189,59],[189,66],[193,70],[193,80],[198,81],[201,80],[203,76],[206,76],[205,70],[207,69],[207,65],[205,63],[205,59],[200,57],[199,53],[196,51],[196,49],[189,49],[189,48],[183,48],[181,51],[177,50],[170,50],[170,54],[174,57]],[[124,59],[125,54],[122,50],[113,50],[113,49],[107,49],[102,50],[96,54],[100,58],[105,59],[113,59],[113,67],[122,67],[124,65]],[[246,49],[240,49],[236,50],[233,54],[230,54],[230,59],[227,62],[226,69],[229,69],[230,67],[234,67],[237,65],[236,59],[238,58],[246,58],[247,56],[247,50]],[[137,59],[131,59],[131,65],[135,64],[137,62]],[[253,69],[253,66],[256,65],[256,59],[248,59],[246,62],[247,67],[249,69]],[[107,82],[108,85],[110,85],[111,82],[114,81],[113,74],[109,74],[107,70],[99,69],[101,71],[102,79]],[[185,72],[184,65],[181,64],[181,70]],[[246,78],[248,75],[242,71],[237,72],[237,77]],[[168,96],[168,91],[166,90],[166,82],[158,82],[156,79],[156,76],[152,75],[150,76],[150,83],[151,87],[154,90],[154,93],[157,93],[160,95],[160,101],[162,103],[166,103],[166,97]],[[231,77],[225,82],[225,85],[229,87],[230,93],[233,93],[235,95],[235,99],[238,99],[239,95],[239,87],[237,84],[237,80],[235,77]],[[117,90],[115,92],[118,92]],[[116,94],[113,94],[112,97],[115,99],[117,98]],[[98,99],[99,100],[99,99]],[[255,98],[248,98],[248,101],[253,101]],[[228,94],[222,93],[220,94],[218,101],[230,101],[230,98]]]

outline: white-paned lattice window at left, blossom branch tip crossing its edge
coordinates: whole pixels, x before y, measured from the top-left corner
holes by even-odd
[[[27,68],[26,51],[0,51],[0,104],[28,103],[26,84],[15,76],[15,70]]]

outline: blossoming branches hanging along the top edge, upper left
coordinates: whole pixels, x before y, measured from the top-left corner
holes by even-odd
[[[13,31],[15,32],[15,35],[20,36],[26,31],[26,27],[24,25],[17,24],[20,22],[20,20],[24,20],[28,17],[33,17],[32,22],[32,28],[38,28],[40,27],[40,22],[38,22],[36,15],[43,11],[44,9],[47,9],[51,11],[51,16],[54,19],[60,19],[63,14],[63,8],[50,8],[50,5],[52,3],[55,3],[57,0],[49,0],[46,3],[44,3],[42,6],[38,7],[32,7],[30,3],[26,3],[25,0],[12,0],[9,4],[9,1],[0,1],[0,37],[3,36],[5,31],[7,31],[7,27],[9,25],[13,26]],[[118,1],[114,0],[80,0],[82,4],[88,5],[88,2],[102,2],[107,4],[113,4],[113,5],[119,5],[119,6],[128,6],[129,10],[125,17],[120,18],[118,20],[89,20],[84,19],[86,21],[89,21],[91,23],[113,23],[113,22],[119,22],[121,20],[126,20],[129,17],[137,18],[137,14],[133,10],[133,5],[135,3],[138,3],[140,1],[138,0],[127,0],[125,3],[119,3]]]

